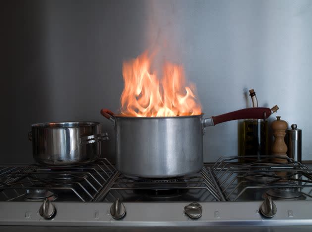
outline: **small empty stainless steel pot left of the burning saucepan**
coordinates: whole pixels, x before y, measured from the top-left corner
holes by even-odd
[[[77,165],[93,161],[101,155],[99,122],[49,122],[33,124],[28,138],[33,143],[36,161],[49,165]]]

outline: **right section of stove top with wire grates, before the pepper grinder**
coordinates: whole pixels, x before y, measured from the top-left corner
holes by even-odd
[[[235,156],[221,157],[211,169],[227,201],[311,200],[312,170],[284,156],[282,163],[271,156],[246,160]]]

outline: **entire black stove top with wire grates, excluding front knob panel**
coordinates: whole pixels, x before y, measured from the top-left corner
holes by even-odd
[[[312,170],[287,156],[224,156],[198,173],[142,179],[118,172],[107,159],[74,167],[0,167],[0,201],[212,202],[312,199]]]

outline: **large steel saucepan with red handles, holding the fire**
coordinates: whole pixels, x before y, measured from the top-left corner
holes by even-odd
[[[205,127],[221,122],[267,118],[269,108],[249,108],[203,119],[202,115],[174,117],[117,116],[103,109],[116,138],[116,168],[130,176],[171,178],[203,167]]]

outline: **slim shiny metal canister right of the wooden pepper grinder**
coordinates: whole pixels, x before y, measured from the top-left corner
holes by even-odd
[[[295,161],[301,162],[301,129],[297,124],[292,124],[287,130],[287,155]]]

